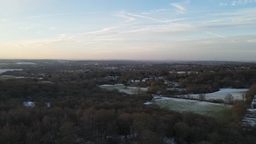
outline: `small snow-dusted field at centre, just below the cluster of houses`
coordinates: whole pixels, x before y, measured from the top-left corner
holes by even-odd
[[[108,90],[118,89],[119,92],[124,92],[126,94],[134,94],[135,89],[138,87],[128,87],[128,86],[115,86],[115,85],[101,85],[101,88],[106,88]],[[146,92],[148,88],[141,88],[141,92]]]

